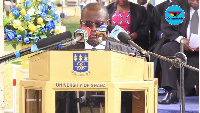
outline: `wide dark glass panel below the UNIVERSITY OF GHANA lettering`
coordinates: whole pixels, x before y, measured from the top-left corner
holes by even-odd
[[[56,113],[105,113],[104,91],[56,91]]]

